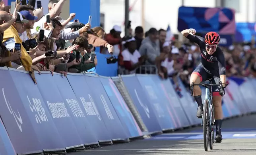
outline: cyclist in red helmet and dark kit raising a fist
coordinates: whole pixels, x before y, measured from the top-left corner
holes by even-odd
[[[182,35],[188,38],[191,42],[197,43],[201,50],[201,62],[192,72],[190,77],[190,84],[199,84],[202,81],[206,81],[208,78],[213,78],[213,83],[222,82],[223,87],[226,87],[226,68],[225,58],[219,45],[219,34],[216,32],[208,32],[204,37],[204,42],[195,36],[196,30],[193,28],[183,30]],[[215,140],[221,142],[221,124],[223,119],[221,98],[219,94],[219,88],[217,86],[212,87],[213,91],[213,106],[214,117],[216,125],[216,137]],[[202,103],[202,91],[199,86],[194,86],[193,96],[198,104],[197,117],[202,118],[203,103]],[[224,94],[222,94],[224,95]]]

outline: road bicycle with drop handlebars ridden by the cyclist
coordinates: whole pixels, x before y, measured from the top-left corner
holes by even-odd
[[[219,81],[219,84],[213,84],[212,78],[207,79],[209,83],[200,83],[200,84],[191,84],[191,92],[190,95],[193,95],[193,89],[194,85],[199,85],[206,87],[206,98],[204,100],[204,106],[203,106],[203,116],[202,116],[202,123],[203,126],[203,134],[204,134],[204,150],[208,151],[208,147],[210,146],[210,149],[213,149],[213,143],[214,143],[214,129],[215,129],[215,118],[214,118],[214,108],[212,104],[212,86],[218,86],[219,87],[219,94],[221,96],[225,95],[224,88],[221,81]],[[216,143],[220,143],[216,141]]]

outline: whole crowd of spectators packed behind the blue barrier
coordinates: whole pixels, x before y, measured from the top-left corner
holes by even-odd
[[[66,0],[50,0],[46,15],[43,8],[35,9],[33,1],[27,5],[17,3],[14,12],[1,2],[0,66],[27,70],[35,83],[34,70],[66,76],[68,72],[80,73],[94,68],[98,63],[95,47],[100,47],[101,53],[118,55],[118,74],[173,77],[177,89],[176,77],[189,87],[190,74],[200,63],[200,49],[196,44],[167,39],[164,29],[150,28],[144,32],[142,26],[137,26],[133,31],[128,25],[129,34],[121,37],[121,26],[114,25],[106,34],[101,26],[92,28],[90,23],[79,23],[75,20],[76,13],[62,20],[60,13]],[[43,39],[39,34],[41,30],[45,30]],[[27,41],[32,40],[36,45],[27,45]],[[20,50],[15,48],[17,43],[21,44]],[[256,77],[256,49],[249,44],[221,48],[227,76]]]

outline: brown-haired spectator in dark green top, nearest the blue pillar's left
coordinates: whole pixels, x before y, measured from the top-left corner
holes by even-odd
[[[88,40],[85,38],[85,36],[79,36],[76,38],[76,40],[74,40],[73,44],[76,44],[76,49],[70,53],[70,58],[67,64],[68,72],[80,73],[87,71],[97,65],[96,56],[93,61],[91,61],[89,58],[87,51],[90,49],[88,49]],[[78,52],[80,55],[79,60],[76,59]]]

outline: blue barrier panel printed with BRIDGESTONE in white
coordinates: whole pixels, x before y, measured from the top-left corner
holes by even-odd
[[[66,147],[79,146],[83,144],[78,130],[71,118],[72,113],[68,112],[68,105],[65,104],[54,77],[50,73],[35,74],[38,89],[43,96],[47,109]]]

